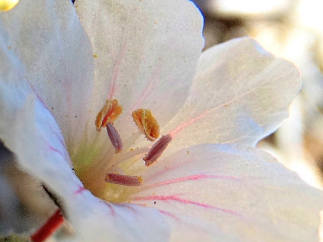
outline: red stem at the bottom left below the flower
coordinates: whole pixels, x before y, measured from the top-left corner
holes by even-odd
[[[64,217],[61,210],[57,210],[44,225],[42,225],[34,234],[30,236],[32,242],[43,242],[50,237],[62,224]]]

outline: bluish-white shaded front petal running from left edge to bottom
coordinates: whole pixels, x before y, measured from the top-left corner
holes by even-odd
[[[167,241],[169,226],[159,211],[111,205],[84,189],[55,119],[23,78],[19,62],[1,47],[0,137],[20,167],[58,198],[76,230],[75,241]]]

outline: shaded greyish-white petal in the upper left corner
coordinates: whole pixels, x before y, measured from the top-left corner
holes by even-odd
[[[21,61],[25,78],[73,146],[87,121],[94,64],[71,1],[21,1],[1,14],[0,31],[3,47]]]

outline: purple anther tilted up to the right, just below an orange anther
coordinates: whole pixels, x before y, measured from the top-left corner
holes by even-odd
[[[161,156],[172,139],[173,138],[170,134],[163,135],[160,139],[158,139],[157,142],[153,144],[148,154],[143,158],[146,166],[150,166],[159,158],[159,156]]]

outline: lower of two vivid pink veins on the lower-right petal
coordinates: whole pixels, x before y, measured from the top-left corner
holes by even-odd
[[[179,203],[183,203],[183,204],[192,204],[192,205],[196,205],[202,208],[206,208],[206,209],[214,209],[217,211],[221,211],[224,213],[229,213],[232,215],[236,215],[236,216],[240,216],[240,214],[229,210],[229,209],[222,209],[222,208],[218,208],[218,207],[214,207],[211,205],[207,205],[207,204],[202,204],[202,203],[198,203],[198,202],[194,202],[194,201],[190,201],[190,200],[186,200],[186,199],[182,199],[179,197],[176,197],[175,195],[169,195],[169,196],[147,196],[147,197],[138,197],[138,198],[134,198],[133,201],[140,201],[140,200],[161,200],[161,201],[176,201]]]

